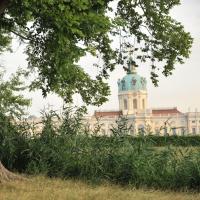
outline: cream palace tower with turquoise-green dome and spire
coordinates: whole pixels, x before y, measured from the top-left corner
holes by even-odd
[[[147,81],[137,74],[130,56],[127,74],[118,80],[119,109],[123,115],[144,113],[147,108]]]

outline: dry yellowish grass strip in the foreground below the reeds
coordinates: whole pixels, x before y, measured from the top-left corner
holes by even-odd
[[[0,185],[1,200],[199,200],[200,194],[137,190],[116,185],[33,177]]]

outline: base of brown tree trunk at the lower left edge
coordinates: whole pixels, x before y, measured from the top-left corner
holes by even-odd
[[[8,171],[0,161],[0,183],[10,181],[10,180],[22,180],[23,178]]]

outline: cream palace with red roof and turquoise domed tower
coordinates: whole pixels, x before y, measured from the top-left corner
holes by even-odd
[[[129,134],[195,135],[200,134],[200,112],[182,113],[176,107],[149,108],[147,81],[136,72],[130,56],[126,76],[118,80],[118,111],[95,111],[87,118],[91,130],[97,121],[101,133],[110,135],[119,118],[127,119]]]

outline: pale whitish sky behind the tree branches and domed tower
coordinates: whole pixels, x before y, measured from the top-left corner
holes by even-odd
[[[148,107],[177,107],[182,112],[200,111],[200,1],[199,0],[182,0],[182,5],[172,11],[172,16],[180,21],[185,30],[190,32],[194,38],[192,53],[190,58],[183,65],[176,65],[173,75],[170,77],[159,77],[159,87],[154,87],[149,78],[150,68],[148,63],[142,64],[137,72],[147,78],[148,89]],[[26,66],[26,56],[22,53],[23,48],[18,44],[13,47],[12,54],[6,53],[0,57],[0,64],[4,65],[8,73],[12,73],[19,66]],[[80,61],[81,66],[87,69],[93,69],[93,59],[91,57],[83,58]],[[94,69],[93,69],[94,70]],[[117,80],[125,75],[121,66],[111,74],[109,85],[111,86],[111,96],[109,101],[101,107],[89,107],[89,112],[94,110],[118,110],[118,92]],[[30,114],[38,115],[44,107],[52,105],[59,109],[62,100],[56,95],[49,95],[43,99],[41,92],[27,93],[27,97],[32,98],[32,107],[29,109]],[[78,97],[74,98],[74,103],[81,105]]]

